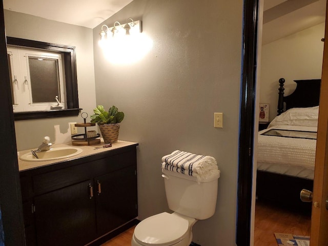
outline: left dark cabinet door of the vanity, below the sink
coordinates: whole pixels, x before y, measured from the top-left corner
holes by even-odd
[[[37,245],[84,245],[95,239],[91,183],[80,182],[34,198]]]

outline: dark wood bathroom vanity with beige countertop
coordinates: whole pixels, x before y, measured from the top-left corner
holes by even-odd
[[[118,141],[80,147],[68,159],[19,160],[27,245],[100,245],[137,223],[137,145]]]

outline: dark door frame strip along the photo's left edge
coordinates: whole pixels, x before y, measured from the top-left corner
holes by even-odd
[[[0,8],[0,245],[19,246],[25,245],[23,204],[2,0]]]

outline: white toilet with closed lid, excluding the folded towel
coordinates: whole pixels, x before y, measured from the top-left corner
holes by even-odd
[[[132,246],[189,246],[197,220],[213,216],[219,172],[198,181],[194,176],[162,169],[165,192],[172,214],[163,212],[135,227]]]

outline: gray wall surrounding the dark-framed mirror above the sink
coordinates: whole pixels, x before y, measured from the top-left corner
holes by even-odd
[[[93,113],[96,98],[92,29],[8,10],[4,13],[7,36],[75,46],[79,107],[82,112]],[[15,121],[17,150],[37,148],[44,136],[56,144],[71,141],[69,122],[83,122],[83,119],[76,116]],[[82,133],[84,129],[79,131]]]

